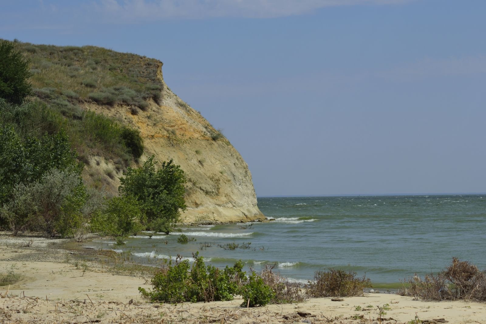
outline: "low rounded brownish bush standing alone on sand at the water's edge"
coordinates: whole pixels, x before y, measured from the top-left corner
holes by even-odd
[[[364,288],[370,288],[369,278],[356,277],[355,272],[329,269],[316,271],[314,280],[307,283],[307,294],[310,297],[350,297],[363,296]]]

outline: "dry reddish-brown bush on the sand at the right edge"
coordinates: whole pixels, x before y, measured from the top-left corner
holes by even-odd
[[[415,275],[405,280],[402,295],[424,300],[486,301],[486,273],[468,261],[452,258],[452,264],[437,275],[428,274],[422,280]]]

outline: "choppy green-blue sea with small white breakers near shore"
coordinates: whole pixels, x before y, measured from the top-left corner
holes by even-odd
[[[170,235],[141,233],[124,246],[95,239],[87,247],[153,266],[177,255],[192,260],[193,253],[218,267],[241,259],[246,271],[271,265],[301,283],[335,268],[382,289],[437,273],[454,256],[486,269],[486,195],[262,197],[258,206],[270,222],[190,226]],[[195,240],[178,243],[181,234]]]

